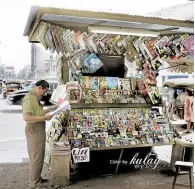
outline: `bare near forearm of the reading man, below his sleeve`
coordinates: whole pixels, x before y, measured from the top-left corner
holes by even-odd
[[[50,120],[53,117],[53,115],[45,115],[45,116],[32,116],[31,113],[24,114],[24,121],[27,123],[37,123],[42,122],[45,120]]]

